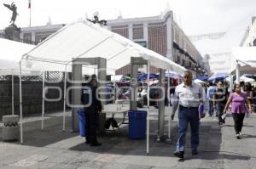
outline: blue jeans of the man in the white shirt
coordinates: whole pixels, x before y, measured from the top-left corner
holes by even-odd
[[[198,108],[179,108],[178,110],[178,139],[177,139],[177,151],[184,151],[185,149],[185,140],[186,132],[188,125],[190,124],[191,128],[191,149],[197,149],[199,145],[199,116]]]

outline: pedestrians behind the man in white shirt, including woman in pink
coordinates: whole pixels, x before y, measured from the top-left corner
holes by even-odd
[[[234,85],[234,90],[230,91],[226,82],[209,82],[207,90],[208,115],[218,117],[219,127],[225,123],[225,114],[229,110],[235,123],[236,138],[241,138],[242,121],[245,115],[253,112],[256,103],[256,87],[251,83],[240,82]]]

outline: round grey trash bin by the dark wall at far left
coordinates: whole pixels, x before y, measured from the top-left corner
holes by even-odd
[[[14,141],[19,138],[19,120],[19,115],[3,115],[3,141]]]

